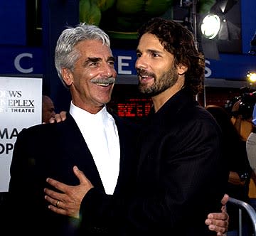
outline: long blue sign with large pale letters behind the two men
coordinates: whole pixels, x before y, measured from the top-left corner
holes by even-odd
[[[113,49],[115,68],[119,75],[136,75],[135,50]],[[1,75],[43,74],[43,50],[27,47],[0,47]],[[220,54],[220,60],[206,59],[206,77],[245,80],[248,71],[256,70],[256,56]]]

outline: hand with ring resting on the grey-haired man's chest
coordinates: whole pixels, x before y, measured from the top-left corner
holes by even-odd
[[[73,171],[80,181],[78,186],[68,186],[65,183],[55,181],[53,178],[47,178],[47,183],[62,193],[52,191],[49,188],[45,188],[44,192],[46,193],[45,199],[50,203],[48,205],[50,210],[61,215],[79,218],[82,198],[93,186],[77,166],[73,167]]]

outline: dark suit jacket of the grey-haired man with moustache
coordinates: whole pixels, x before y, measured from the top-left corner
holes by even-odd
[[[114,116],[120,141],[120,172],[114,195],[130,190],[135,163],[134,124]],[[99,144],[100,148],[100,144]],[[73,173],[77,165],[92,184],[105,193],[100,175],[87,144],[73,117],[65,122],[40,124],[23,129],[16,139],[11,162],[9,184],[9,219],[11,227],[21,235],[75,235],[79,221],[48,210],[43,189],[46,178],[55,178],[68,185],[78,185]],[[86,235],[105,233],[105,229],[87,228]]]

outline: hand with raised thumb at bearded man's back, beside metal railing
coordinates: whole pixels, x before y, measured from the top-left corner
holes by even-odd
[[[228,203],[228,194],[221,200],[221,213],[210,213],[206,219],[209,230],[217,232],[217,236],[223,236],[228,231],[229,216],[225,208]]]

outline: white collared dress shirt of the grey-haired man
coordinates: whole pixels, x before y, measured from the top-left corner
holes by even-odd
[[[107,112],[106,107],[97,114],[91,114],[76,107],[73,102],[70,104],[70,114],[90,149],[105,192],[114,193],[120,161],[119,136],[114,118]]]

